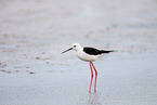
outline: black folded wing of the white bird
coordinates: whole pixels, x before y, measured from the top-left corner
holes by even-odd
[[[99,55],[103,53],[114,52],[114,51],[97,50],[95,48],[88,48],[88,47],[83,48],[83,51],[90,55]]]

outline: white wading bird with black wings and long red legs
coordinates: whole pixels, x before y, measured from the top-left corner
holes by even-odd
[[[94,71],[95,71],[94,92],[96,92],[97,70],[95,69],[95,67],[94,67],[92,62],[94,62],[99,57],[102,57],[103,55],[105,55],[105,54],[107,54],[109,52],[114,52],[114,51],[97,50],[95,48],[89,48],[89,47],[81,48],[79,43],[74,43],[71,48],[69,48],[68,50],[66,50],[66,51],[64,51],[62,53],[65,53],[65,52],[70,51],[70,50],[75,50],[77,52],[77,56],[80,60],[90,63],[90,68],[91,68],[91,82],[90,82],[90,89],[89,89],[90,93],[91,93],[91,86],[92,86],[92,81],[93,81],[92,67],[94,68]]]

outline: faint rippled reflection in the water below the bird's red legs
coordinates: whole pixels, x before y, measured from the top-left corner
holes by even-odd
[[[102,103],[100,101],[100,95],[101,94],[97,94],[97,93],[89,94],[88,105],[102,105]]]

